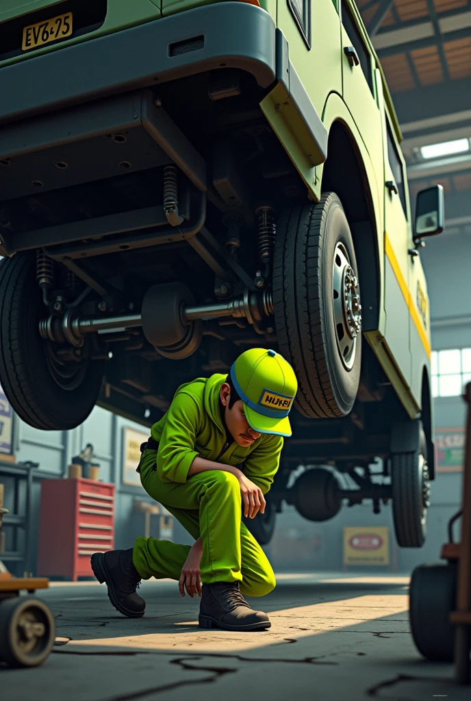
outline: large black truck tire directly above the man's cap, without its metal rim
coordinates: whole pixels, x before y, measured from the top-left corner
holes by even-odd
[[[336,342],[332,266],[337,242],[346,247],[358,277],[350,227],[335,193],[325,193],[317,204],[292,205],[277,227],[273,305],[278,348],[298,378],[296,407],[310,418],[346,416],[360,383],[361,333],[350,370]]]

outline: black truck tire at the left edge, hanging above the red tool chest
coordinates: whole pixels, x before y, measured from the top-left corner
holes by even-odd
[[[104,364],[89,362],[80,385],[60,387],[48,367],[39,320],[47,313],[36,285],[36,254],[0,261],[0,383],[14,411],[43,430],[76,428],[100,394]]]

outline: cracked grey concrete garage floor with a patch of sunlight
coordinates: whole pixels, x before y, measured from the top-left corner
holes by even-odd
[[[469,701],[453,667],[425,662],[409,633],[407,576],[280,575],[264,599],[267,632],[200,630],[196,599],[146,582],[144,618],[119,615],[104,585],[41,593],[57,639],[36,669],[0,664],[8,701]]]

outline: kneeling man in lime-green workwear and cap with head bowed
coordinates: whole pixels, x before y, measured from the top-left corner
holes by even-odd
[[[243,594],[261,597],[275,587],[266,554],[242,522],[263,514],[264,495],[280,463],[297,382],[275,351],[252,348],[228,376],[198,378],[177,389],[170,408],[141,447],[137,470],[146,492],[163,504],[196,543],[139,536],[129,550],[93,554],[93,572],[107,583],[114,607],[144,614],[140,580],[179,580],[199,594],[199,625],[226,630],[266,629],[266,613]],[[203,586],[202,586],[203,584]]]

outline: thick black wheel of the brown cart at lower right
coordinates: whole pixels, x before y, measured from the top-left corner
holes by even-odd
[[[428,660],[453,662],[456,627],[450,613],[456,604],[457,566],[420,565],[409,587],[409,620],[418,651]]]

